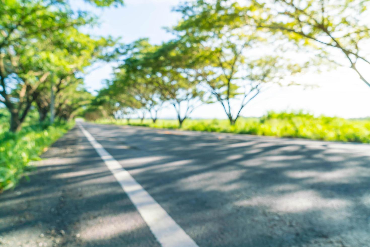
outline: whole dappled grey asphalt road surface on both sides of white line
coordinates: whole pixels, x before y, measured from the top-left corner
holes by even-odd
[[[83,123],[198,246],[370,246],[370,146]],[[0,195],[0,246],[160,246],[78,127]]]

